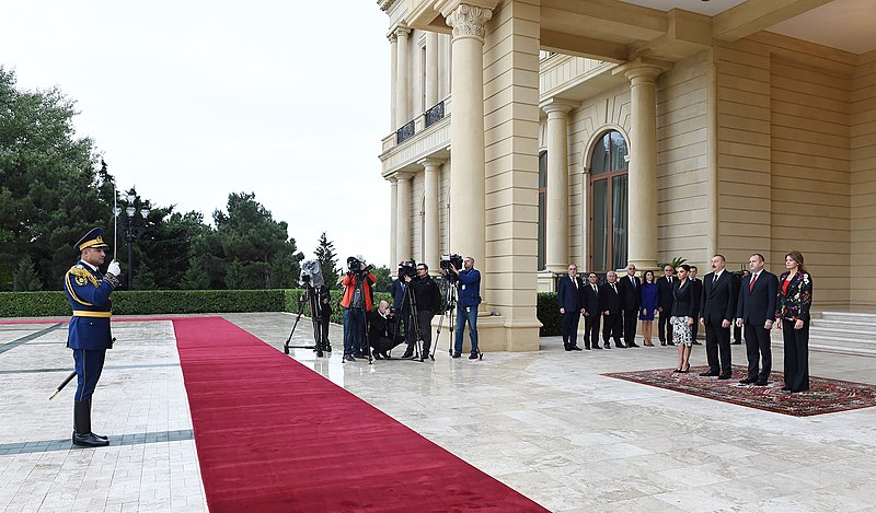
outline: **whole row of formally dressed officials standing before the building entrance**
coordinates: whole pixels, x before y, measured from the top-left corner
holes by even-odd
[[[660,345],[677,346],[677,373],[690,370],[691,347],[696,342],[700,324],[705,328],[705,352],[708,369],[701,376],[718,380],[733,377],[731,329],[745,330],[748,375],[740,384],[765,386],[772,370],[771,330],[782,328],[785,348],[785,392],[809,389],[808,333],[812,282],[799,252],[785,255],[786,271],[781,278],[764,269],[763,255],[756,253],[748,261],[748,272],[739,281],[726,269],[723,255],[712,257],[712,272],[702,280],[695,268],[666,266],[665,276],[656,281],[646,271],[643,282],[630,264],[626,273],[609,271],[606,282],[590,272],[587,281],[578,277],[578,268],[568,266],[568,273],[557,282],[557,306],[563,316],[563,346],[566,351],[580,351],[577,345],[578,324],[584,317],[584,349],[637,348],[638,320],[645,326],[646,346],[650,342],[650,322],[659,315]],[[602,324],[602,343],[599,328]]]

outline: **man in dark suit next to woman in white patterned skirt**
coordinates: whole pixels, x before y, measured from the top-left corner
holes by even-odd
[[[708,371],[701,376],[718,376],[729,380],[733,376],[730,362],[730,325],[736,317],[736,281],[725,269],[724,255],[712,257],[713,272],[703,278],[703,295],[700,312],[705,325],[705,354]]]

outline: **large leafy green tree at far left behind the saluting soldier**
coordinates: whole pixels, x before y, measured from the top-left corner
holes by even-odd
[[[112,220],[112,176],[95,172],[74,102],[57,89],[19,91],[0,67],[0,277],[24,250],[42,283],[58,283],[76,261],[71,244]]]

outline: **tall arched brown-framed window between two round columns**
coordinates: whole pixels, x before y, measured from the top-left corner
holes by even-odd
[[[590,269],[598,272],[626,266],[626,154],[623,136],[611,130],[590,155]]]

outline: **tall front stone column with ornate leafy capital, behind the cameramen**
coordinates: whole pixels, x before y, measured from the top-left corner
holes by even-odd
[[[472,256],[482,271],[481,293],[486,291],[485,164],[484,164],[484,24],[493,11],[465,3],[441,12],[453,27],[450,91],[450,247]]]

